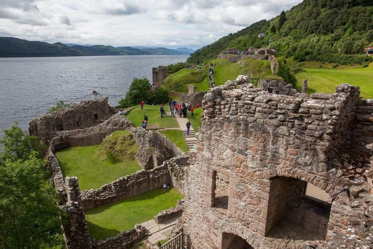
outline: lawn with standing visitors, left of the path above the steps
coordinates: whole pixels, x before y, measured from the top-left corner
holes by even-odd
[[[173,99],[172,99],[173,100]],[[161,118],[160,106],[144,105],[144,110],[141,110],[141,106],[134,106],[126,117],[131,120],[134,127],[141,127],[141,122],[144,120],[144,115],[148,116],[148,130],[156,130],[165,127],[179,127],[178,121],[169,116]],[[165,106],[166,112],[170,111],[168,106]]]

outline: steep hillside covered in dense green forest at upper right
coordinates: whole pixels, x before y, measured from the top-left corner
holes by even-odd
[[[280,56],[367,65],[372,58],[358,55],[373,44],[372,5],[372,0],[304,0],[269,21],[261,20],[220,38],[197,50],[187,61],[203,63],[229,47],[268,47],[271,38],[271,47]],[[267,36],[260,38],[258,33]]]

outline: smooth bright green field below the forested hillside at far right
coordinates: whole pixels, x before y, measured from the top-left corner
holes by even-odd
[[[304,72],[295,74],[298,80],[297,91],[302,88],[304,79],[308,80],[307,93],[334,93],[336,86],[344,83],[360,86],[361,97],[373,98],[373,63],[366,68],[324,69],[304,68]]]

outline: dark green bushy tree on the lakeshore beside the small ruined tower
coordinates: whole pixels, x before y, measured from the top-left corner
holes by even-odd
[[[151,100],[150,82],[147,78],[134,78],[126,97],[119,100],[119,105],[116,108],[128,108],[139,105],[141,101],[149,103]]]

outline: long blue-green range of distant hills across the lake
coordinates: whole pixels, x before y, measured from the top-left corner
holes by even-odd
[[[14,37],[0,37],[0,57],[48,57],[48,56],[100,56],[100,55],[189,55],[190,51],[164,47],[137,49],[104,45],[74,45],[72,43],[46,43],[27,41]]]

